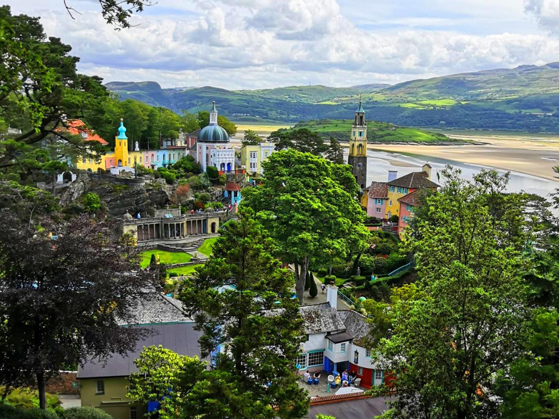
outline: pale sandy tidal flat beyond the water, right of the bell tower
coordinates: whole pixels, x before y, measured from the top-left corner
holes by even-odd
[[[369,150],[432,156],[487,168],[514,170],[559,182],[559,179],[555,178],[557,174],[553,171],[553,167],[559,165],[559,137],[538,138],[529,134],[514,137],[447,135],[489,144],[451,146],[375,144],[369,145],[368,148]]]

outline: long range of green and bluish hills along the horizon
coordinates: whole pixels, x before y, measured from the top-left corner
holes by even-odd
[[[236,122],[349,118],[362,97],[369,119],[397,125],[559,132],[559,63],[395,85],[229,91],[211,86],[162,89],[157,82],[110,82],[106,87],[122,100],[137,99],[175,112],[197,112],[215,100],[220,113]]]

